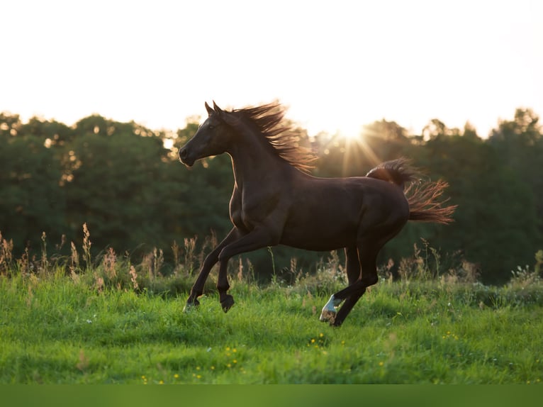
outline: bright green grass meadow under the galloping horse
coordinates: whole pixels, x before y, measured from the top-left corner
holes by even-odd
[[[0,275],[0,384],[543,379],[539,279],[501,288],[381,281],[332,328],[318,316],[342,284],[327,288],[319,276],[266,287],[232,277],[236,304],[228,314],[213,291],[198,310],[183,313],[186,292],[97,288],[95,278],[96,270],[75,277],[62,268]]]

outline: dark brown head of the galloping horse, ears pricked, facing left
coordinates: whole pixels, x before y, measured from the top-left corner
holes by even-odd
[[[232,143],[234,132],[228,123],[235,118],[230,116],[230,112],[219,108],[214,101],[213,108],[206,102],[206,110],[208,111],[206,121],[179,150],[179,160],[187,167],[191,167],[201,158],[223,154]]]

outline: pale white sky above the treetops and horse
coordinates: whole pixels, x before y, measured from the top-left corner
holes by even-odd
[[[539,0],[6,0],[0,111],[177,130],[205,101],[279,100],[310,135],[438,118],[486,137],[543,115],[542,22]]]

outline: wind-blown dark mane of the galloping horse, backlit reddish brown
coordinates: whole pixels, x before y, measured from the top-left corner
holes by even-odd
[[[316,157],[310,149],[300,145],[300,135],[284,119],[285,108],[279,102],[262,106],[235,109],[231,113],[250,121],[271,147],[286,162],[303,172],[313,168]]]

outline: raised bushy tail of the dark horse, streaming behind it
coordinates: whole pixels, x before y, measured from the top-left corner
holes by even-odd
[[[405,197],[409,203],[409,220],[435,223],[451,223],[452,214],[456,205],[443,206],[448,199],[439,201],[444,190],[449,186],[442,180],[417,181],[418,171],[411,167],[409,160],[399,158],[387,161],[371,169],[366,177],[381,179],[404,188],[405,183],[410,183],[405,191]]]

